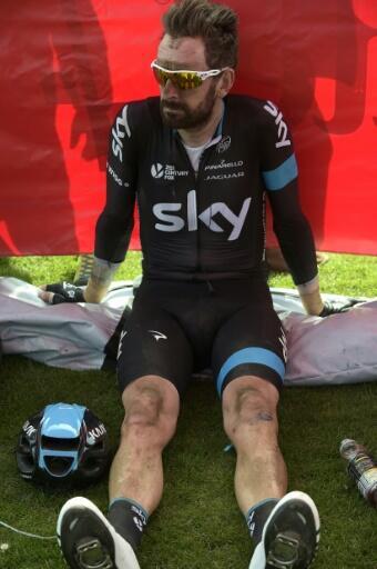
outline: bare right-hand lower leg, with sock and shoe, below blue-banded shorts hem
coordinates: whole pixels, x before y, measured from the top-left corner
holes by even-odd
[[[237,452],[235,493],[256,545],[249,569],[306,569],[317,548],[319,517],[307,495],[285,495],[277,401],[275,386],[255,376],[224,389],[224,428]]]

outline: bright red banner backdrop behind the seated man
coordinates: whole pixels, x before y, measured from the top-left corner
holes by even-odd
[[[1,256],[92,251],[109,128],[123,101],[157,93],[170,3],[1,1]],[[377,2],[227,4],[241,19],[234,90],[291,123],[317,248],[376,254]]]

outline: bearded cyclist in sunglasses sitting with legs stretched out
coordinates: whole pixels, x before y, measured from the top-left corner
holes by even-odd
[[[249,569],[307,568],[315,556],[317,508],[305,492],[287,493],[277,440],[287,346],[263,271],[266,197],[307,312],[328,308],[286,121],[271,101],[230,94],[237,44],[233,10],[210,0],[167,9],[152,62],[160,97],[125,104],[111,131],[89,283],[83,293],[42,293],[100,302],[124,260],[137,200],[143,278],[119,346],[124,420],[109,513],[84,498],[62,508],[58,533],[72,569],[140,567],[163,491],[163,449],[193,371],[210,366],[237,453],[235,495],[255,546]]]

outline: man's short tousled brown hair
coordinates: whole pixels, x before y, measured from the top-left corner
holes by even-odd
[[[164,33],[172,38],[202,38],[210,68],[235,67],[238,18],[227,6],[210,0],[176,0],[162,17]]]

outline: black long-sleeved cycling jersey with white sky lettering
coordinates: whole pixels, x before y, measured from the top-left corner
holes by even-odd
[[[140,210],[143,272],[205,280],[258,274],[265,196],[296,284],[317,274],[309,224],[297,196],[297,166],[282,112],[271,101],[227,96],[218,141],[195,174],[177,131],[164,126],[157,97],[125,104],[110,138],[106,203],[95,256],[124,259]]]

